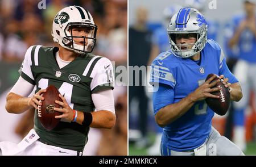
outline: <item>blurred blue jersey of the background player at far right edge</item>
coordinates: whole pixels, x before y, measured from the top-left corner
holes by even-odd
[[[232,23],[234,33],[245,18],[245,15],[234,16]],[[239,59],[243,59],[250,63],[256,63],[256,38],[249,28],[245,28],[245,30],[242,31],[237,44],[237,49]]]

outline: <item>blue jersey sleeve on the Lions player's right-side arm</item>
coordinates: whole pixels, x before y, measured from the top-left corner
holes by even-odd
[[[224,55],[224,52],[222,51],[222,49],[220,51],[220,64],[219,65],[220,65],[220,70],[218,73],[219,76],[224,75],[225,78],[229,78],[230,83],[239,82],[237,80],[237,78],[234,76],[234,74],[232,74],[232,72],[230,72],[228,65],[226,65],[226,58],[225,58],[225,55]]]

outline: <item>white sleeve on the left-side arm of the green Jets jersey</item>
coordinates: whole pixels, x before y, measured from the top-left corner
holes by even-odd
[[[24,80],[26,80],[27,82],[30,82],[32,85],[35,85],[35,79],[31,70],[31,66],[32,66],[31,52],[33,47],[34,46],[31,46],[30,48],[27,49],[22,65],[20,66],[19,73]]]

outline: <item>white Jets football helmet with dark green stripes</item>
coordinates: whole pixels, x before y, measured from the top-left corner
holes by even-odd
[[[73,36],[73,27],[88,27],[88,36]],[[60,10],[52,23],[53,41],[76,53],[90,53],[96,43],[97,26],[90,12],[80,6],[69,6]],[[82,38],[84,45],[76,44],[74,38]]]

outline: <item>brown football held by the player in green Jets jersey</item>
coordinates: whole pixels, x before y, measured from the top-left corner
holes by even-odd
[[[51,131],[60,122],[60,119],[56,119],[55,115],[61,115],[61,112],[53,110],[54,107],[61,107],[55,103],[55,100],[62,102],[59,94],[59,90],[57,90],[55,86],[49,85],[46,88],[46,92],[42,93],[44,97],[42,106],[38,106],[38,118],[42,126],[48,131]]]

